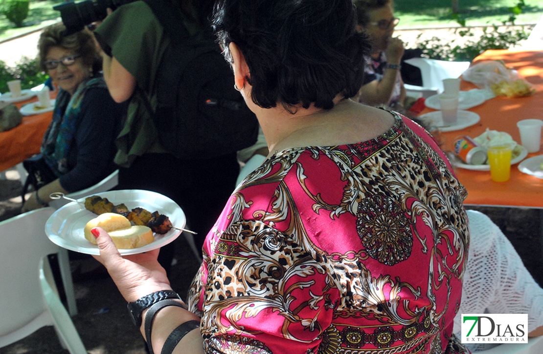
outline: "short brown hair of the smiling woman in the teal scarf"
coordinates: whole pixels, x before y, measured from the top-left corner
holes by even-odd
[[[62,23],[55,23],[43,29],[40,39],[37,42],[38,59],[40,68],[47,71],[45,61],[47,53],[52,47],[62,47],[72,49],[78,55],[81,55],[83,63],[92,67],[93,72],[100,70],[102,58],[98,54],[96,45],[92,38],[92,33],[88,29],[81,30],[71,35],[64,35],[66,26]]]

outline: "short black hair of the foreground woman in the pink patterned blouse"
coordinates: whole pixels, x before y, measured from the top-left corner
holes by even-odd
[[[212,24],[226,60],[231,42],[241,49],[260,107],[331,109],[362,86],[370,45],[351,0],[219,0]]]

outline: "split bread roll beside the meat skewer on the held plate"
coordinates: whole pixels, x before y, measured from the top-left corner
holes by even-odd
[[[118,249],[135,249],[150,244],[155,240],[153,232],[147,226],[130,226],[130,221],[123,215],[104,213],[87,222],[85,238],[96,245],[96,238],[91,233],[94,227],[102,227]]]

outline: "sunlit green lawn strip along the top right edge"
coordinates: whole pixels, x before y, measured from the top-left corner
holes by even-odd
[[[466,26],[501,24],[511,14],[517,0],[458,0],[460,15],[466,18]],[[452,15],[451,0],[396,0],[394,14],[401,18],[397,29],[424,27],[457,27]],[[525,0],[522,13],[515,23],[536,23],[543,15],[543,1]]]

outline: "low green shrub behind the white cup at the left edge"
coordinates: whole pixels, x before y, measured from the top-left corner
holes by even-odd
[[[48,75],[40,71],[36,59],[22,58],[15,67],[7,66],[0,60],[0,92],[8,92],[8,81],[21,80],[21,88],[31,89],[45,82]]]

